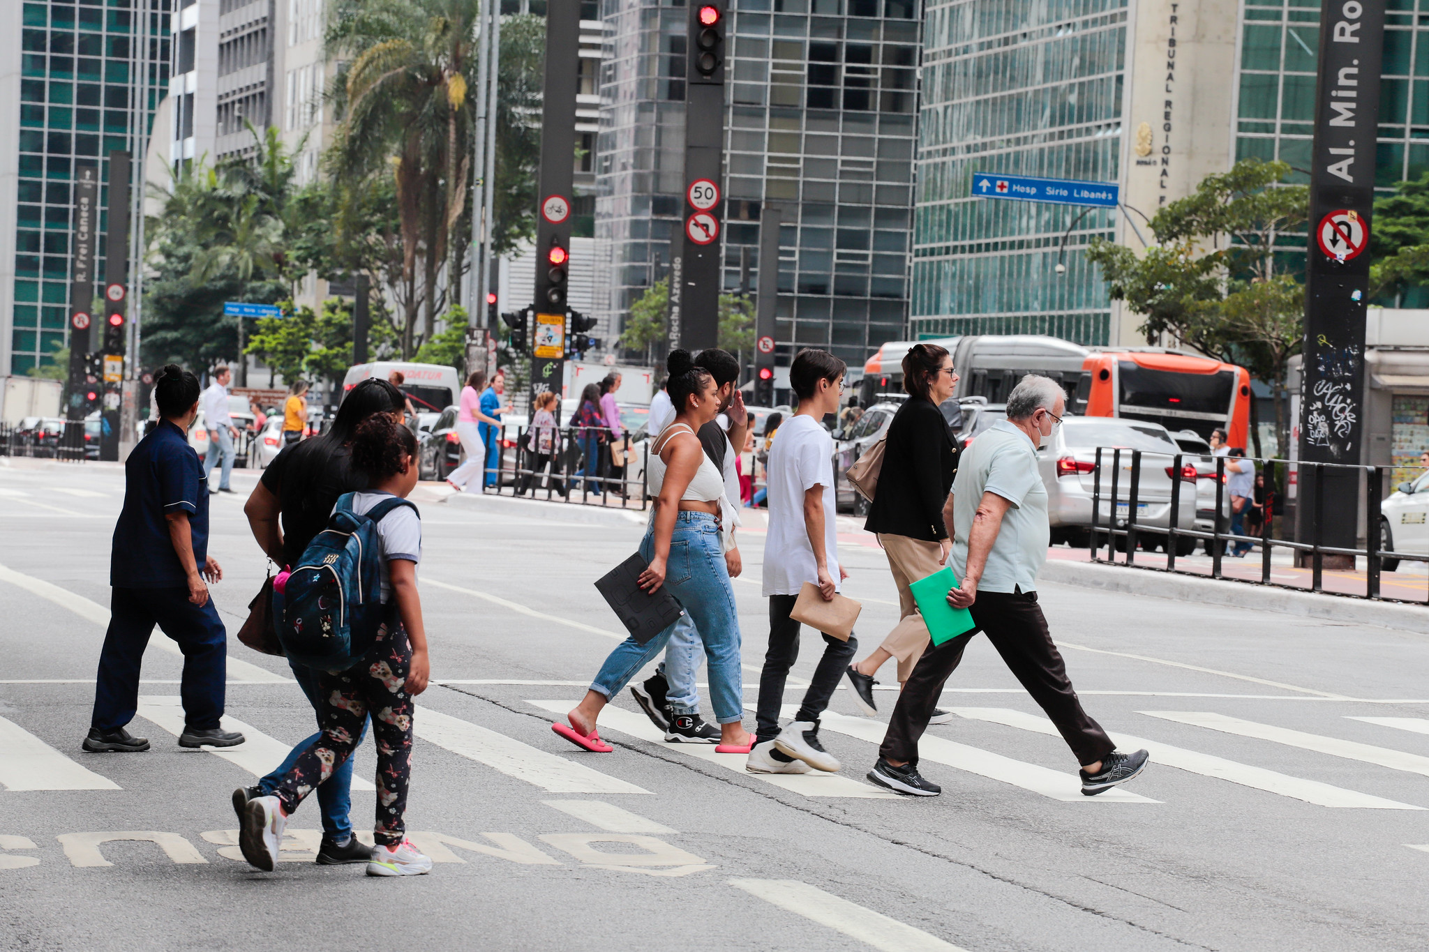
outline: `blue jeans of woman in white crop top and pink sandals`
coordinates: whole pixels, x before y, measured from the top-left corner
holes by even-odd
[[[640,555],[654,558],[654,527],[646,530]],[[664,587],[680,599],[709,657],[710,705],[719,724],[745,719],[743,672],[739,667],[739,614],[735,589],[720,551],[719,525],[709,512],[679,512],[670,537],[670,558],[664,567]],[[626,638],[600,665],[590,689],[613,698],[670,641],[680,622],[674,622],[650,641],[637,644]],[[693,682],[693,677],[690,678]],[[693,687],[693,685],[692,685]]]

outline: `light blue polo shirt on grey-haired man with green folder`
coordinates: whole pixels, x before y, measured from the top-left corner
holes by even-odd
[[[1037,450],[1027,434],[999,420],[973,440],[957,461],[953,480],[953,572],[960,579],[967,565],[967,534],[983,492],[1012,502],[1002,517],[997,540],[977,591],[1036,591],[1037,572],[1047,561],[1052,530],[1047,525],[1047,490],[1037,471]]]

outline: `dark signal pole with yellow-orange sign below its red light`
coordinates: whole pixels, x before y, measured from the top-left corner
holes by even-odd
[[[576,180],[576,88],[580,70],[580,0],[546,6],[546,87],[542,94],[540,193],[536,210],[536,323],[532,397],[562,394],[566,358],[566,285],[570,275],[570,200]]]

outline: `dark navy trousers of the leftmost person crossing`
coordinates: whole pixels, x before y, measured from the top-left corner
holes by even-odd
[[[154,625],[179,642],[183,651],[184,724],[194,731],[219,726],[223,716],[223,685],[227,669],[229,634],[223,629],[213,598],[199,608],[187,588],[114,588],[110,597],[109,631],[99,655],[91,726],[121,728],[139,709],[139,665]]]

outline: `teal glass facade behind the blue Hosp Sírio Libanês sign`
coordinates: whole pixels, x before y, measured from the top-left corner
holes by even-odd
[[[1109,343],[1106,285],[1083,250],[1115,238],[1117,211],[970,193],[979,171],[1117,181],[1125,49],[1125,0],[929,0],[912,337]]]

